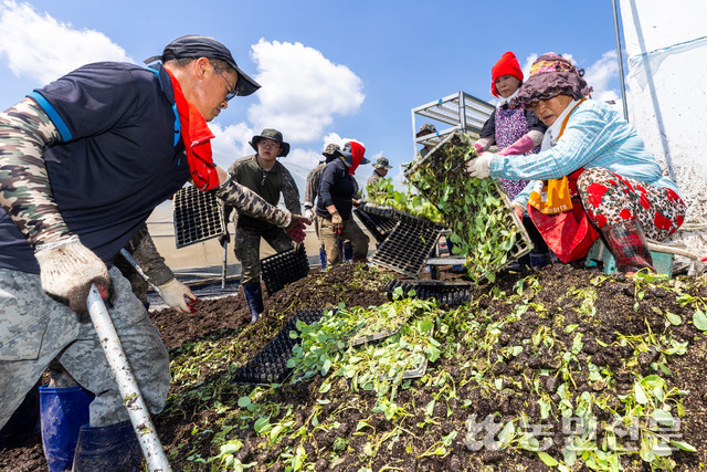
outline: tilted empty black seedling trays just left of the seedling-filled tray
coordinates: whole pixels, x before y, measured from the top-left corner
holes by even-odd
[[[444,227],[389,207],[367,204],[366,209],[398,221],[371,262],[410,277],[420,275]]]

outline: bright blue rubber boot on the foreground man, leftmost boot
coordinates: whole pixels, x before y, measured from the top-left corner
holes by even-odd
[[[88,422],[93,396],[81,386],[41,386],[42,444],[50,472],[70,471],[82,424]]]

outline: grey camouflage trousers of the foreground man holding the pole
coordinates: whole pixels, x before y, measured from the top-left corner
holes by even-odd
[[[106,304],[108,313],[145,402],[158,413],[169,390],[169,355],[128,281],[116,268],[109,275],[115,295]],[[49,297],[39,275],[0,269],[0,428],[54,357],[96,395],[92,427],[128,419],[88,313],[77,314]]]

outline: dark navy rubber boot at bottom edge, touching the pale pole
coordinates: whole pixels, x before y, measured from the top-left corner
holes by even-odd
[[[137,472],[141,463],[143,451],[129,420],[81,428],[73,472]]]

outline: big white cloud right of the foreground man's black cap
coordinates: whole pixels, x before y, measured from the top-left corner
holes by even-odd
[[[249,109],[256,128],[276,128],[293,143],[318,140],[335,114],[351,114],[363,103],[362,81],[313,48],[261,39],[251,55],[263,86],[260,104]]]

